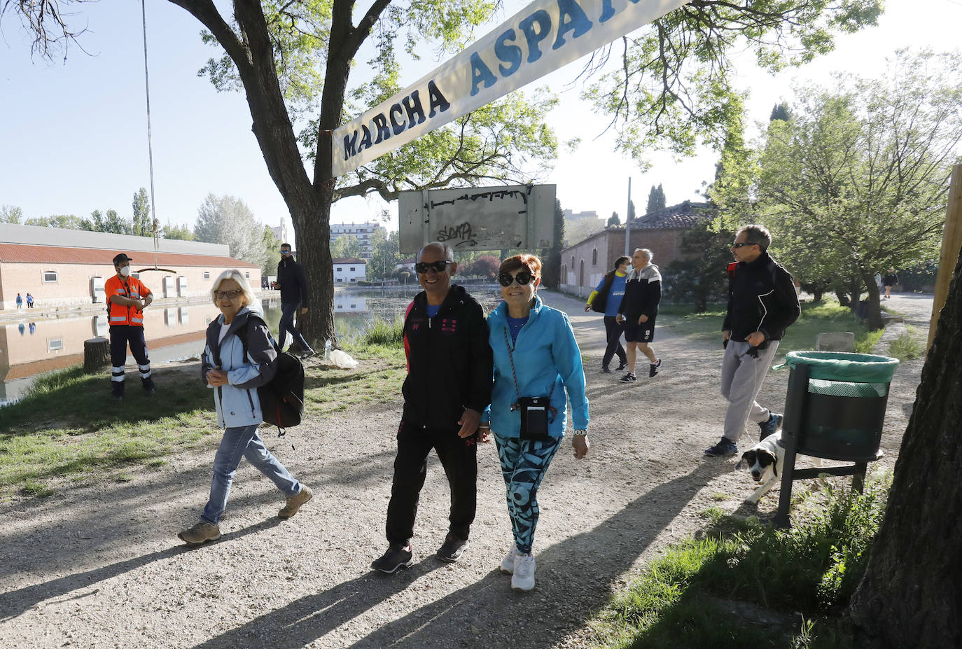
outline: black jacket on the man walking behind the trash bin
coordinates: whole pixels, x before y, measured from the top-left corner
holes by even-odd
[[[756,331],[765,334],[766,341],[781,340],[800,312],[791,273],[767,252],[753,262],[729,264],[722,331],[730,331],[732,340],[744,341]]]

